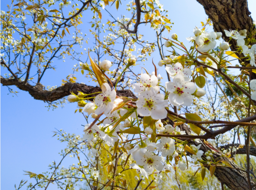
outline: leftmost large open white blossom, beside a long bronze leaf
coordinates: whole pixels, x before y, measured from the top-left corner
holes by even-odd
[[[115,90],[111,91],[108,83],[103,83],[101,89],[102,93],[98,94],[95,98],[95,104],[98,106],[95,110],[95,114],[97,115],[102,114],[103,112],[108,114],[113,108],[116,96]]]

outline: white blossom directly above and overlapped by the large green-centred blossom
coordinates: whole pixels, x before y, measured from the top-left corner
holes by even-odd
[[[156,91],[156,93],[159,92],[159,90],[160,90],[160,88],[158,86],[158,79],[157,79],[156,75],[152,75],[150,77],[148,74],[142,73],[140,83],[134,84],[134,88],[135,88],[134,92],[140,93],[145,90],[148,90],[151,87]]]

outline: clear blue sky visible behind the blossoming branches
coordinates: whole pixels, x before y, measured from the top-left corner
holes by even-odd
[[[7,2],[1,0],[1,10],[6,11]],[[170,34],[178,34],[179,39],[189,47],[186,37],[191,36],[193,28],[201,26],[200,22],[205,22],[207,18],[202,5],[197,3],[196,0],[165,0],[160,2],[164,4],[164,9],[169,10],[169,18],[171,22],[174,22]],[[123,2],[123,6],[126,3],[128,1]],[[256,7],[256,2],[249,0],[249,10],[252,12],[252,17],[256,19],[256,11],[253,10],[253,7]],[[111,10],[113,10],[114,16],[121,15],[121,11]],[[106,17],[107,13],[103,12],[103,19]],[[89,34],[89,24],[86,23],[86,20],[83,23],[83,33]],[[211,28],[209,28],[209,31],[211,31]],[[155,38],[155,33],[149,30],[149,26],[140,26],[139,33],[144,35],[144,39],[152,39],[152,36]],[[170,35],[166,32],[165,36]],[[84,48],[88,49],[92,46],[91,44],[92,42],[89,41],[89,44],[86,44]],[[158,51],[151,55],[147,62],[150,66],[146,66],[146,68],[149,68],[150,72],[153,71],[151,66],[152,57],[154,62],[157,63],[160,60]],[[71,73],[71,68],[76,64],[68,57],[66,62],[55,60],[54,63],[57,71],[50,71],[44,76],[42,83],[45,86],[61,85],[61,80]],[[164,67],[160,67],[159,72],[166,81]],[[4,73],[7,73],[6,69],[1,69],[1,75]],[[84,82],[83,80],[85,79],[80,76],[78,82]],[[55,137],[52,138],[54,128],[82,135],[83,127],[81,124],[85,124],[81,114],[74,114],[74,110],[77,109],[76,104],[66,104],[63,109],[58,108],[54,111],[48,111],[45,107],[47,104],[43,101],[33,99],[28,92],[21,91],[14,86],[12,88],[19,92],[18,96],[8,95],[8,88],[1,85],[2,189],[14,189],[14,184],[19,184],[21,179],[29,179],[28,176],[23,175],[23,170],[39,174],[46,171],[48,164],[52,163],[53,160],[58,162],[61,159],[58,152],[65,148],[66,144],[58,142]],[[67,167],[73,162],[76,162],[76,160],[70,158],[63,165]]]

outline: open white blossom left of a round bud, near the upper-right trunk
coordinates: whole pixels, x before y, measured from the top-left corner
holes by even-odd
[[[196,37],[196,43],[198,44],[198,51],[207,52],[216,46],[216,32],[210,32],[202,34]]]

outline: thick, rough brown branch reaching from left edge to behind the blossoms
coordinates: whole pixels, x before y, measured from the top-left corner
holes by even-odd
[[[10,86],[15,85],[19,89],[29,92],[29,94],[35,98],[36,100],[44,100],[48,102],[53,102],[58,99],[61,99],[65,96],[70,95],[70,92],[74,92],[75,94],[78,93],[78,91],[81,91],[85,94],[90,94],[94,92],[101,92],[101,89],[98,86],[89,86],[86,84],[80,84],[80,83],[65,83],[63,86],[60,86],[52,91],[44,90],[44,86],[42,84],[37,84],[35,86],[27,83],[25,84],[22,81],[18,81],[15,79],[5,79],[1,76],[1,84],[3,86]],[[117,90],[116,91],[117,96],[124,96],[124,97],[133,97],[136,98],[133,92],[130,90]],[[93,97],[97,96],[97,94],[93,94]],[[92,97],[88,96],[88,97]]]

